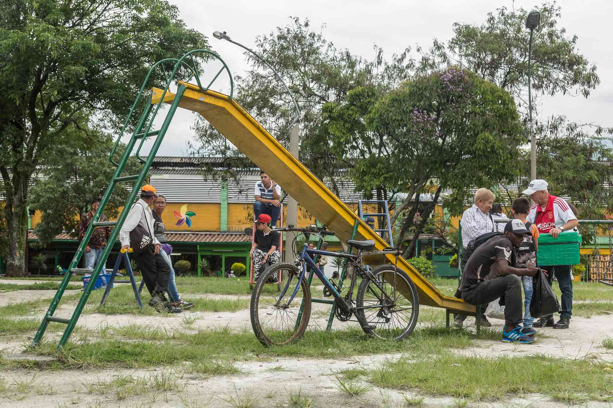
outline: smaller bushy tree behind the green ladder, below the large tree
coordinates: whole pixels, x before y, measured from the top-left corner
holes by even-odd
[[[70,129],[78,132],[76,129]],[[93,135],[96,135],[92,132]],[[98,135],[93,141],[75,138],[78,144],[61,146],[53,157],[43,162],[43,174],[34,184],[29,199],[30,209],[42,212],[34,232],[42,247],[62,231],[78,236],[78,226],[89,204],[104,194],[115,166],[109,161],[113,141],[107,135]],[[118,147],[123,154],[123,144]],[[137,174],[140,163],[132,156],[124,166],[123,175]],[[126,184],[115,186],[104,213],[110,219],[119,215],[130,194]]]

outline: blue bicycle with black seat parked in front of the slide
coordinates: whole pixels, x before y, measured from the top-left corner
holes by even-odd
[[[357,254],[334,251],[310,250],[308,239],[311,234],[318,237],[333,236],[334,232],[326,227],[310,226],[295,228],[289,225],[275,231],[301,232],[294,237],[293,247],[300,235],[306,240],[300,257],[295,264],[279,262],[261,273],[251,294],[251,326],[257,339],[265,347],[290,344],[299,340],[307,330],[311,317],[311,290],[307,283],[307,266],[310,267],[324,284],[324,296],[331,295],[336,305],[336,317],[349,321],[356,317],[362,330],[369,336],[383,339],[402,340],[410,335],[417,323],[419,297],[417,289],[406,273],[396,265],[380,265],[374,269],[362,264],[364,251],[375,248],[373,240],[348,240],[348,245],[357,248]],[[396,257],[399,251],[375,251],[368,256]],[[296,255],[294,250],[294,255]],[[344,258],[346,265],[355,267],[349,286],[342,281],[330,281],[313,262],[310,255],[327,255]],[[397,259],[397,258],[396,258]],[[300,267],[299,267],[300,266]],[[280,295],[263,294],[265,282],[273,273],[284,273],[284,284]],[[362,278],[354,299],[353,292],[358,276]],[[345,292],[345,295],[343,295]],[[302,312],[300,305],[303,303]]]

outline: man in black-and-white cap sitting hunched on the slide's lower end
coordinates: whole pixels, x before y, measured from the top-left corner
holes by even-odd
[[[538,268],[512,267],[512,247],[519,247],[524,234],[530,234],[521,220],[511,220],[504,226],[501,236],[482,243],[468,258],[462,273],[460,292],[462,299],[471,305],[489,303],[504,297],[502,341],[508,343],[532,343],[534,338],[522,333],[522,280],[520,276],[535,276]]]

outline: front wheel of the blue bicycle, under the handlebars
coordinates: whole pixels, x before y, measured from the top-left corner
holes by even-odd
[[[266,281],[275,272],[285,272],[283,275],[283,287],[286,291],[283,299],[277,296],[272,296],[272,299],[265,295],[263,296]],[[289,300],[298,284],[297,278],[299,276],[300,270],[294,264],[280,262],[265,270],[256,282],[256,286],[251,294],[249,314],[251,316],[253,332],[264,347],[273,345],[283,346],[293,343],[299,340],[307,330],[307,325],[311,318],[311,288],[305,279],[300,282],[300,288],[294,300],[292,300],[291,306],[289,308],[278,306],[287,303],[287,300]],[[275,302],[273,302],[273,299]],[[300,316],[299,324],[296,325],[302,299],[304,300],[302,316]],[[264,319],[264,317],[268,318]]]

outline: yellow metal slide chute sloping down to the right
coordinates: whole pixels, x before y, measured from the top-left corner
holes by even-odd
[[[179,103],[181,108],[202,115],[238,149],[264,169],[283,190],[294,197],[300,206],[315,215],[330,231],[335,231],[341,240],[349,239],[357,214],[330,191],[300,161],[285,149],[235,100],[215,91],[200,91],[196,85],[181,82],[187,87]],[[162,89],[153,88],[151,103],[158,103]],[[175,95],[167,92],[165,103],[171,103]],[[389,245],[375,231],[360,220],[356,239],[371,239],[376,249],[383,250]],[[394,257],[389,256],[394,262]],[[398,259],[398,267],[405,270],[415,283],[421,305],[437,306],[451,311],[465,311],[474,314],[475,307],[463,300],[443,295],[424,276],[417,272],[405,259]]]

